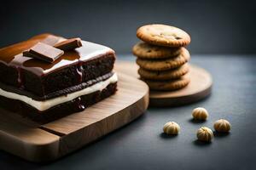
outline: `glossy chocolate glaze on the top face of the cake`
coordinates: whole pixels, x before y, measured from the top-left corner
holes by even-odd
[[[0,48],[0,62],[5,65],[20,67],[27,71],[32,71],[38,76],[49,74],[69,65],[85,62],[106,54],[114,54],[111,48],[93,42],[82,41],[83,46],[71,51],[66,51],[54,63],[47,63],[39,59],[32,59],[22,55],[22,52],[32,48],[38,42],[44,42],[54,46],[58,42],[66,40],[63,37],[56,37],[51,34],[41,34],[32,37],[25,42],[19,42],[6,48]]]

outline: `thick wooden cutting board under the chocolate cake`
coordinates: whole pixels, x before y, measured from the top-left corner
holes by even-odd
[[[141,116],[148,108],[148,86],[118,75],[116,94],[55,122],[39,125],[0,108],[0,149],[28,161],[53,161]]]

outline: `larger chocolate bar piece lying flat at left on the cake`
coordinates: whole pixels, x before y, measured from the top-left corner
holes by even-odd
[[[30,58],[41,59],[49,63],[53,63],[56,59],[59,59],[64,51],[58,48],[51,47],[50,45],[42,42],[38,42],[35,46],[28,51],[24,51],[23,55]]]

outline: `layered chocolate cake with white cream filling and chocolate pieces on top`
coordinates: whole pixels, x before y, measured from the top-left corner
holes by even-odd
[[[114,94],[118,80],[114,51],[86,41],[73,48],[73,42],[42,34],[1,48],[0,107],[49,122]],[[51,48],[58,54],[55,59],[49,58]]]

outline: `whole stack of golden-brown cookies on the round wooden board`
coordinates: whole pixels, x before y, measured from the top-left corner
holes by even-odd
[[[147,25],[137,30],[143,40],[132,49],[138,74],[150,90],[171,91],[189,84],[189,34],[173,26]]]

